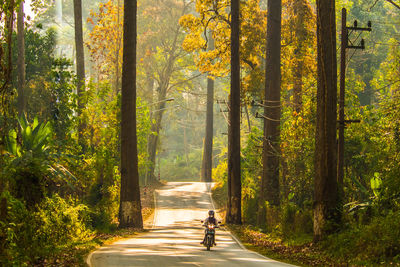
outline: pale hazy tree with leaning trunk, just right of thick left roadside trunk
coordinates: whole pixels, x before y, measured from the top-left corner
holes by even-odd
[[[190,3],[185,1],[169,0],[165,2],[156,1],[156,5],[143,5],[141,13],[150,29],[141,34],[141,47],[143,51],[143,65],[145,69],[147,90],[152,94],[154,81],[157,86],[157,98],[154,99],[154,110],[152,111],[152,132],[148,141],[149,170],[146,180],[156,181],[154,174],[157,145],[160,140],[160,130],[162,119],[166,107],[167,95],[177,85],[182,85],[192,80],[185,80],[183,70],[189,69],[192,64],[191,58],[182,49],[183,32],[177,18],[185,15],[189,11]],[[168,10],[168,12],[165,12]],[[162,14],[162,16],[160,16]],[[156,18],[157,23],[154,24]],[[166,25],[160,27],[159,25]],[[189,67],[188,67],[189,65]],[[149,75],[150,74],[150,75]],[[187,75],[187,74],[186,74]],[[182,77],[183,76],[183,77]],[[153,99],[150,97],[150,99]]]

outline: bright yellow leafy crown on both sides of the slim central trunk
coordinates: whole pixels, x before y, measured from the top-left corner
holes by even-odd
[[[187,35],[182,44],[185,50],[195,52],[199,71],[213,77],[224,77],[230,71],[230,1],[196,1],[199,16],[188,14],[179,22]],[[258,0],[243,1],[240,5],[240,60],[242,65],[242,97],[247,92],[260,95],[263,82],[262,62],[265,47],[266,12],[260,10]],[[206,50],[212,32],[215,49]]]

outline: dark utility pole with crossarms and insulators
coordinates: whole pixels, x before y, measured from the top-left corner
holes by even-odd
[[[364,39],[361,39],[360,45],[354,45],[349,40],[349,35],[353,31],[371,31],[371,22],[368,21],[368,27],[358,27],[357,20],[354,26],[347,27],[347,10],[342,9],[342,36],[340,49],[340,89],[339,89],[339,134],[338,134],[338,169],[337,181],[339,185],[339,196],[343,197],[343,178],[344,178],[344,128],[346,123],[360,122],[359,120],[345,120],[345,88],[346,88],[346,49],[365,49]],[[350,31],[350,33],[349,33]]]

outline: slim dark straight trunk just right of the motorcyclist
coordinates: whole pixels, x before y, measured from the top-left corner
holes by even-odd
[[[228,127],[228,207],[226,222],[242,223],[240,173],[240,52],[239,0],[231,0],[231,93]]]

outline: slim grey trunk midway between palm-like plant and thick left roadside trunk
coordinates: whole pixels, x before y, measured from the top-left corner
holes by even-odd
[[[83,92],[85,91],[85,56],[83,52],[83,30],[82,30],[82,0],[74,0],[74,20],[75,20],[75,49],[76,49],[76,74],[77,84],[76,89],[78,93],[78,116],[82,114],[84,108]],[[78,138],[79,143],[83,142],[83,121],[79,122]]]

